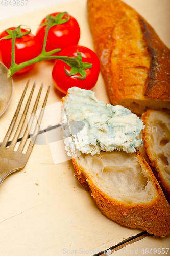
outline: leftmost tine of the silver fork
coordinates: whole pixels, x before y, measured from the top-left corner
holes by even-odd
[[[13,119],[12,119],[12,121],[11,121],[11,124],[10,124],[10,126],[9,126],[8,132],[7,132],[7,134],[6,134],[6,136],[5,136],[4,140],[3,140],[3,142],[2,142],[2,144],[1,144],[1,147],[6,147],[6,145],[7,145],[7,142],[8,142],[8,140],[9,140],[9,137],[10,137],[11,132],[12,132],[12,130],[13,130],[13,127],[14,127],[14,125],[15,125],[16,119],[17,119],[17,117],[18,117],[19,110],[20,110],[20,107],[21,107],[23,98],[24,98],[24,96],[25,96],[25,94],[26,94],[29,81],[30,81],[30,80],[27,81],[26,87],[25,87],[25,89],[24,89],[24,91],[23,91],[23,93],[22,93],[22,96],[21,96],[21,98],[20,98],[19,104],[18,104],[17,109],[16,109],[16,111],[15,111],[14,117],[13,117]]]

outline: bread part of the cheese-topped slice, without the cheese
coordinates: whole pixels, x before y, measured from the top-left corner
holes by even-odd
[[[170,206],[139,151],[101,151],[72,161],[76,177],[107,217],[156,236],[170,232]]]

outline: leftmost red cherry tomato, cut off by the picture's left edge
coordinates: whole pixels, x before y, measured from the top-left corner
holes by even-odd
[[[15,27],[9,28],[14,30]],[[26,32],[28,30],[21,29],[21,32]],[[0,39],[8,36],[9,34],[6,31],[3,31],[0,34]],[[12,39],[2,39],[0,41],[0,61],[9,69],[11,66],[11,48],[12,48]],[[41,53],[41,45],[36,36],[32,33],[23,35],[21,38],[16,38],[15,40],[15,63],[20,64],[22,62],[28,61],[37,57]],[[29,71],[34,65],[25,67],[16,74],[23,74]]]

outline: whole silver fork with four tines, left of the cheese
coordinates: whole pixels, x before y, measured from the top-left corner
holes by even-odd
[[[50,91],[50,86],[48,87],[48,90],[47,90],[47,93],[46,93],[46,96],[45,96],[45,99],[44,99],[44,102],[43,102],[43,105],[42,105],[42,109],[41,109],[39,118],[37,120],[37,125],[36,125],[35,130],[34,130],[34,134],[33,134],[34,141],[32,141],[32,140],[30,141],[27,152],[25,154],[23,154],[22,153],[23,148],[25,147],[27,139],[29,137],[29,127],[31,127],[31,124],[33,122],[33,115],[31,115],[31,118],[30,118],[29,123],[27,124],[26,130],[25,130],[25,133],[24,133],[24,135],[21,139],[20,145],[18,147],[18,150],[14,151],[14,147],[15,147],[17,141],[18,141],[19,134],[21,132],[23,123],[25,122],[26,115],[27,115],[29,105],[30,105],[30,101],[31,101],[31,98],[32,98],[32,95],[33,95],[33,92],[34,92],[34,88],[35,88],[35,82],[34,82],[33,88],[31,90],[31,93],[30,93],[29,99],[27,101],[25,110],[23,111],[22,117],[21,117],[20,122],[18,124],[18,127],[17,127],[17,130],[15,132],[14,138],[11,141],[9,147],[7,147],[7,143],[8,143],[9,137],[10,137],[12,131],[13,131],[13,127],[15,125],[16,119],[18,117],[19,110],[20,110],[23,98],[25,97],[25,94],[26,94],[26,91],[27,91],[27,88],[28,88],[28,84],[29,84],[29,80],[26,84],[25,90],[22,93],[21,99],[20,99],[19,104],[17,106],[17,109],[16,109],[16,112],[15,112],[14,117],[12,119],[12,122],[9,126],[8,132],[7,132],[5,138],[4,138],[4,140],[3,140],[3,142],[0,146],[0,184],[3,182],[3,180],[9,174],[11,174],[13,172],[16,172],[17,170],[20,170],[23,167],[25,167],[25,165],[26,165],[26,163],[29,159],[29,156],[31,154],[31,151],[33,149],[33,146],[34,146],[33,142],[35,141],[36,135],[39,131],[39,126],[40,126],[42,116],[43,116],[43,113],[44,113],[44,109],[45,109],[44,107],[46,105],[46,101],[47,101],[48,94],[49,94],[49,91]],[[39,93],[38,93],[37,99],[35,101],[32,113],[35,113],[36,110],[37,110],[39,98],[40,98],[41,91],[42,91],[42,86],[43,86],[43,84],[41,84],[41,87],[39,89]]]

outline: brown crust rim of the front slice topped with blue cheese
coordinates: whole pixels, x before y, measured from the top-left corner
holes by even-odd
[[[162,190],[153,175],[151,168],[139,151],[133,153],[139,164],[147,170],[147,175],[156,188],[157,196],[149,203],[127,204],[113,199],[104,193],[93,182],[89,173],[80,165],[78,158],[72,159],[75,167],[75,175],[79,182],[91,191],[91,196],[99,206],[103,214],[108,218],[131,228],[137,227],[146,230],[156,236],[166,236],[170,232],[170,206],[167,203]]]

